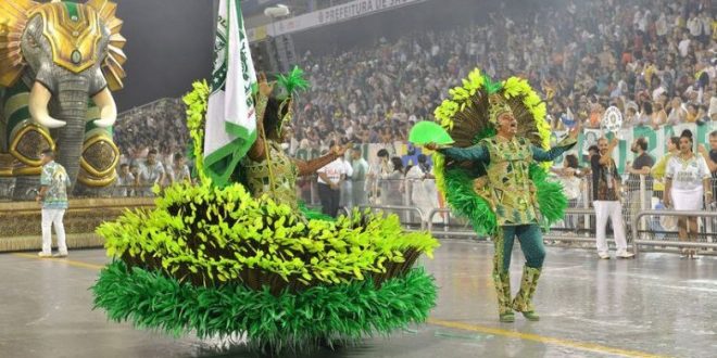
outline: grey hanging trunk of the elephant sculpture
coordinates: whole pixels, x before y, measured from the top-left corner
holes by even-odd
[[[55,161],[65,167],[73,188],[79,174],[79,157],[85,140],[89,81],[83,76],[64,76],[50,101],[50,114],[66,125],[54,129]],[[72,191],[70,191],[72,192]]]

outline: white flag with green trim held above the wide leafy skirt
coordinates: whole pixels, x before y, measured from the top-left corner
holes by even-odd
[[[206,110],[204,164],[210,178],[225,186],[256,139],[253,89],[256,74],[249,52],[239,0],[219,0],[214,71]]]

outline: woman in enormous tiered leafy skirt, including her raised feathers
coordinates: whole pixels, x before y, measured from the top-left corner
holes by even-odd
[[[216,187],[203,171],[209,87],[185,98],[200,183],[175,183],[156,207],[128,212],[98,229],[113,261],[92,287],[115,321],[175,336],[243,337],[252,348],[311,348],[356,342],[423,322],[436,285],[422,268],[436,239],[403,232],[395,216],[354,210],[336,220],[304,215],[295,177],[314,162],[280,150],[300,72],[279,80],[282,95],[256,98],[259,138],[236,172],[246,182]]]

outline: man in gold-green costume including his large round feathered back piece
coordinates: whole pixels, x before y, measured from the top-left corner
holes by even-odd
[[[549,149],[545,105],[527,81],[511,77],[493,82],[478,69],[450,91],[436,117],[454,141],[437,148],[437,179],[449,204],[467,217],[479,234],[495,244],[493,281],[499,317],[514,321],[513,311],[537,321],[532,305],[545,248],[541,226],[563,218],[567,200],[558,183],[545,180],[539,162],[557,158],[575,145],[577,127]],[[511,253],[514,239],[526,258],[520,290],[511,299]]]

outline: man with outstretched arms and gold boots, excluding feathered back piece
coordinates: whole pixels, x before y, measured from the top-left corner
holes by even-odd
[[[534,162],[551,162],[561,156],[575,145],[579,129],[576,127],[557,146],[545,151],[533,145],[527,138],[516,136],[518,122],[501,94],[490,94],[488,106],[488,119],[496,130],[495,136],[483,138],[478,144],[467,148],[439,149],[435,143],[426,148],[437,150],[449,159],[470,163],[479,167],[480,172],[486,172],[474,180],[474,191],[489,203],[495,214],[498,227],[493,232],[493,281],[500,320],[513,322],[513,310],[516,310],[528,320],[537,321],[539,316],[533,308],[532,296],[543,266],[545,248],[530,165]],[[526,265],[520,290],[515,299],[511,301],[511,253],[516,236],[526,257]]]

